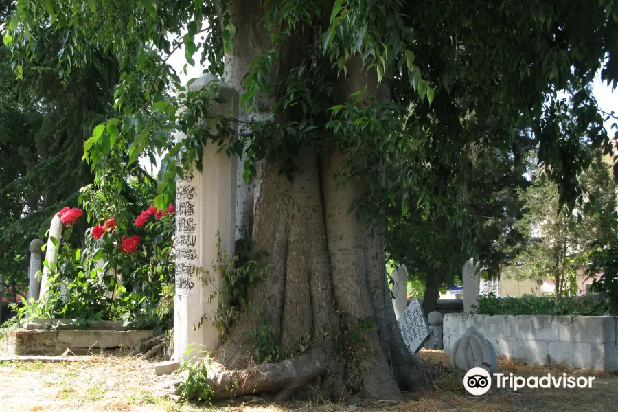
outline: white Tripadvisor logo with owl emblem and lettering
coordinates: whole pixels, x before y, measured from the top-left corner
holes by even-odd
[[[508,388],[517,391],[522,388],[531,389],[550,389],[550,388],[569,388],[575,387],[584,389],[591,389],[593,386],[594,376],[552,376],[547,374],[545,376],[515,376],[512,373],[505,376],[505,374],[494,374],[496,377],[497,388]],[[464,388],[470,393],[470,395],[483,395],[487,393],[492,387],[492,376],[488,371],[482,367],[473,367],[464,376]]]

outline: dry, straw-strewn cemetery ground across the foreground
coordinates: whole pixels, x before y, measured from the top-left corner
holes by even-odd
[[[448,364],[442,351],[422,350],[420,356],[439,366]],[[398,401],[352,400],[346,403],[271,402],[248,396],[213,405],[178,403],[165,398],[174,375],[156,376],[153,363],[135,356],[100,354],[71,362],[0,363],[0,411],[616,411],[618,376],[558,367],[528,366],[499,359],[499,369],[520,376],[577,374],[595,376],[593,389],[492,390],[485,396],[465,393],[463,374],[447,372],[422,393],[406,393]]]

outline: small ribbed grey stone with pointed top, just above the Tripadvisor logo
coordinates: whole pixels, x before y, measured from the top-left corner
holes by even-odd
[[[498,371],[494,346],[474,326],[466,329],[464,336],[455,341],[450,349],[450,363],[464,372],[473,367],[481,367],[490,374]]]

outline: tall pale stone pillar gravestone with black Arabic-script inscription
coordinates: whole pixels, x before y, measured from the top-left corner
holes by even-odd
[[[211,82],[220,81],[205,74],[187,89],[197,91],[209,87]],[[211,115],[238,113],[238,92],[220,84]],[[236,157],[217,152],[216,144],[209,143],[204,147],[202,159],[201,173],[194,168],[176,182],[174,358],[177,361],[199,357],[200,351],[216,351],[219,334],[214,315],[219,304],[217,292],[222,288],[221,274],[213,268],[218,254],[217,232],[225,253],[234,253]],[[205,271],[209,272],[208,276]],[[187,354],[190,349],[194,351]]]

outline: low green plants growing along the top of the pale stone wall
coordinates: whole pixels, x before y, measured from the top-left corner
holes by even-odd
[[[479,306],[474,309],[476,314],[506,315],[536,315],[549,314],[553,316],[603,316],[608,313],[608,307],[602,300],[579,299],[577,297],[496,297],[495,295],[479,296]]]

